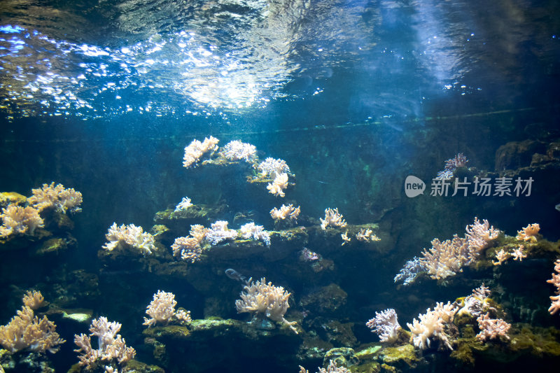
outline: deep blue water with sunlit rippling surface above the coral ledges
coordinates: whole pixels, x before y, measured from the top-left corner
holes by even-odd
[[[352,258],[311,286],[344,288],[356,311],[349,319],[362,325],[380,304],[399,307],[391,304],[392,280],[407,260],[434,237],[461,234],[474,216],[509,235],[538,222],[545,238],[560,238],[557,164],[520,171],[535,178],[531,197],[429,196],[430,179],[457,153],[473,174],[494,178],[503,171],[501,146],[533,141],[542,155],[559,142],[559,13],[556,1],[2,1],[0,191],[30,195],[51,181],[80,190],[79,251],[65,260],[95,274],[107,227],[148,230],[157,211],[185,196],[227,204],[224,218],[251,211],[267,230],[274,228],[269,209],[283,202],[316,219],[337,207],[349,223],[378,223],[391,235],[380,264]],[[183,148],[209,135],[221,146],[252,143],[261,159],[286,160],[295,188],[280,202],[232,171],[181,167]],[[530,168],[533,153],[508,162]],[[425,195],[405,197],[409,175],[428,183]],[[251,265],[296,297],[311,291],[281,265]],[[111,276],[102,286],[111,288]],[[0,279],[0,295],[13,299],[10,286],[41,282]],[[158,286],[178,293],[181,280],[158,279]],[[421,299],[402,306],[404,320],[433,307],[434,293],[451,300],[471,289],[466,281],[432,285],[398,293]],[[183,300],[192,296],[193,316],[202,318],[204,295],[186,288]],[[156,290],[139,289],[148,298]],[[132,312],[101,303],[99,314]],[[144,299],[134,307],[143,311]],[[0,323],[13,310],[2,310]],[[142,343],[139,333],[130,339]]]

